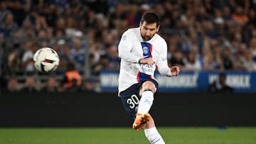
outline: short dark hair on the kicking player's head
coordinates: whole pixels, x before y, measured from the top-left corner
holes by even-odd
[[[144,21],[149,24],[156,23],[156,27],[158,27],[160,23],[160,18],[158,14],[152,11],[148,11],[142,15],[141,23],[143,23]]]

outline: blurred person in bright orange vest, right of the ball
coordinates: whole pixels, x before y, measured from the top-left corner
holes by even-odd
[[[63,77],[60,87],[63,92],[78,92],[82,84],[82,77],[79,72],[75,70],[75,65],[68,64],[65,76]]]

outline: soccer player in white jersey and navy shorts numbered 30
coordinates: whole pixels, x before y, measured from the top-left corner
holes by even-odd
[[[150,143],[163,144],[164,140],[156,129],[149,114],[158,82],[154,72],[166,76],[178,76],[179,67],[168,67],[167,44],[159,31],[159,16],[146,12],[139,28],[129,28],[122,34],[118,50],[121,57],[119,71],[119,96],[124,109],[134,118],[132,128],[144,128]]]

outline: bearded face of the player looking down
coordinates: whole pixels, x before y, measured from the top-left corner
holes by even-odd
[[[141,35],[144,41],[151,40],[151,38],[159,31],[159,26],[156,23],[147,24],[145,21],[139,24]]]

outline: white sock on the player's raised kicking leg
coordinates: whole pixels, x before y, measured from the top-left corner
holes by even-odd
[[[151,91],[142,92],[142,98],[139,101],[139,107],[137,113],[149,113],[154,101],[154,93]]]

